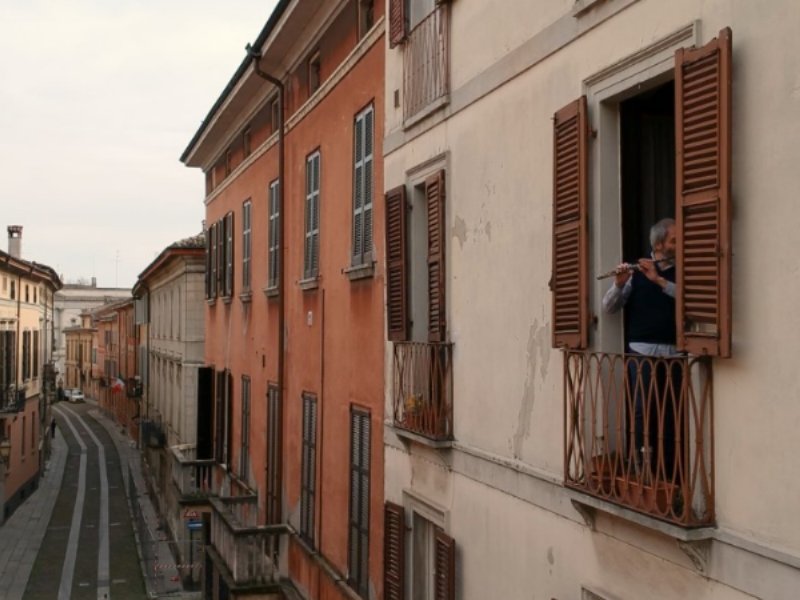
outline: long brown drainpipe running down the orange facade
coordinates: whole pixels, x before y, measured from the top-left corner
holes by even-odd
[[[256,75],[261,77],[264,81],[267,81],[278,88],[278,239],[280,240],[280,244],[278,246],[278,394],[279,394],[279,403],[281,406],[281,422],[279,423],[278,427],[278,443],[276,446],[280,449],[280,456],[276,461],[278,465],[278,474],[277,479],[279,482],[279,489],[281,492],[283,491],[283,414],[284,414],[284,378],[283,372],[285,368],[285,355],[284,355],[284,345],[286,340],[286,269],[284,268],[285,262],[285,239],[284,233],[286,231],[286,212],[284,210],[284,158],[285,158],[285,146],[284,146],[284,137],[285,137],[285,126],[284,126],[284,86],[283,82],[270,75],[269,73],[265,73],[261,69],[261,65],[259,61],[261,60],[261,51],[253,48],[250,44],[247,44],[245,47],[247,51],[247,55],[252,60],[253,71]],[[269,464],[269,457],[267,457],[267,464]],[[283,502],[282,502],[282,493],[278,496],[278,514],[283,515]]]

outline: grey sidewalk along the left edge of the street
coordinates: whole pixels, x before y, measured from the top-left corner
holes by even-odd
[[[0,527],[0,598],[21,600],[53,512],[68,447],[61,431],[52,440],[39,488]]]

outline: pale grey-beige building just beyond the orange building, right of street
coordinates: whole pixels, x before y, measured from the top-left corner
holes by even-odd
[[[141,423],[141,448],[152,476],[160,510],[181,554],[192,562],[193,539],[184,523],[186,500],[182,468],[194,459],[198,439],[198,375],[204,362],[205,236],[200,234],[167,246],[139,275],[133,288],[134,326],[139,332],[136,391]],[[202,417],[209,419],[209,414]],[[199,474],[199,475],[198,475]],[[202,478],[202,477],[201,477]],[[198,542],[201,536],[197,536]],[[199,569],[186,568],[199,582]]]

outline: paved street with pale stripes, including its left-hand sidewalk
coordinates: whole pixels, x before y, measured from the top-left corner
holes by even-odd
[[[45,477],[0,529],[0,597],[146,597],[127,465],[95,405],[59,403],[53,414],[58,428]]]

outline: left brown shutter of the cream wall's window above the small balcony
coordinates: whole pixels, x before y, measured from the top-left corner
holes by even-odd
[[[406,188],[386,193],[386,323],[393,342],[408,339]]]

